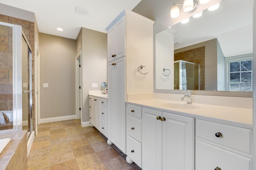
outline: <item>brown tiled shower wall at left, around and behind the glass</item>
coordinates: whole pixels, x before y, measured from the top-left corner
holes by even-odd
[[[35,66],[34,66],[34,22],[0,14],[0,21],[21,25],[32,51],[32,116],[35,130]],[[6,32],[7,31],[7,32]],[[0,27],[0,110],[12,110],[12,37],[10,29]],[[8,82],[8,83],[7,83]],[[10,90],[8,90],[10,89]],[[11,91],[11,94],[9,94]]]

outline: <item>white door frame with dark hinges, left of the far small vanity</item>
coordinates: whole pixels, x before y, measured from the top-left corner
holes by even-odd
[[[82,51],[76,56],[76,118],[82,117]],[[79,88],[80,87],[80,88]],[[79,109],[80,108],[80,109]],[[82,119],[81,119],[82,122]]]

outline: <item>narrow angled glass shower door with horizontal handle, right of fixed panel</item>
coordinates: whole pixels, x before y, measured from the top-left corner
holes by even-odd
[[[33,131],[32,123],[32,53],[22,36],[22,121],[28,122],[28,138]]]

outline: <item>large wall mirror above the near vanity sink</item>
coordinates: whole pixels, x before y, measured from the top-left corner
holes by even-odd
[[[252,97],[252,0],[223,0],[155,43],[154,92]]]

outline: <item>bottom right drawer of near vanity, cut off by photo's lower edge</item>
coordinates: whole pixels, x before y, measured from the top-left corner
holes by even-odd
[[[196,140],[196,170],[252,170],[252,160],[245,156],[224,150]]]

